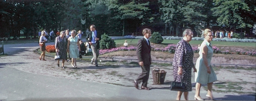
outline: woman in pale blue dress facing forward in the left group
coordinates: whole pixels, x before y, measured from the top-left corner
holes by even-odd
[[[77,49],[78,47],[78,49]],[[80,43],[78,41],[78,37],[76,37],[76,30],[71,31],[71,37],[68,37],[68,52],[70,58],[72,58],[72,66],[77,68],[76,66],[76,58],[79,57]]]

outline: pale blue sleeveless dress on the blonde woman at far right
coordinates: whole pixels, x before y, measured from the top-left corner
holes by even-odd
[[[199,50],[199,57],[196,60],[196,70],[197,72],[195,73],[195,82],[200,83],[200,84],[208,84],[208,83],[212,83],[214,81],[217,80],[216,74],[212,69],[212,66],[210,66],[211,69],[211,74],[207,73],[207,68],[204,64],[204,60],[203,60],[203,45],[206,44],[207,48],[208,48],[208,52],[207,52],[207,61],[208,64],[211,64],[211,60],[212,60],[212,55],[213,55],[213,49],[212,49],[212,45],[211,43],[209,43],[208,41],[204,40],[204,42],[201,44],[200,50]]]

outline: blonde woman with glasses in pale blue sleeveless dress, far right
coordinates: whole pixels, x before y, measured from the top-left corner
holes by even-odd
[[[199,57],[196,60],[195,81],[196,81],[196,93],[195,100],[203,100],[200,97],[201,84],[207,84],[208,92],[206,97],[213,99],[212,97],[212,84],[217,80],[216,74],[212,69],[211,59],[213,55],[213,49],[211,45],[212,31],[209,29],[204,30],[204,42],[200,46]]]

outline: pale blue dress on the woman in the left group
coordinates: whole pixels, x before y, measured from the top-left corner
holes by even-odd
[[[79,57],[79,50],[77,46],[78,37],[75,37],[75,38],[69,37],[68,39],[70,41],[70,44],[69,44],[70,58],[78,58]]]

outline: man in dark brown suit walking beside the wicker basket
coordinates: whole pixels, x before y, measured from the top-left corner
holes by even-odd
[[[147,87],[147,84],[148,84],[148,77],[149,77],[150,64],[151,64],[151,55],[150,55],[151,46],[148,40],[148,38],[151,37],[151,30],[148,28],[143,29],[142,34],[144,35],[144,37],[138,41],[137,50],[136,50],[138,63],[141,66],[142,72],[140,76],[134,80],[134,86],[135,88],[139,89],[138,84],[142,82],[141,89],[150,90]]]

